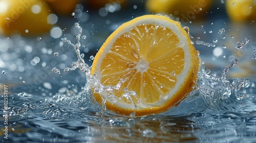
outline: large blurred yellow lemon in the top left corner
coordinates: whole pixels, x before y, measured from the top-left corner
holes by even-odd
[[[33,35],[49,32],[49,11],[40,0],[0,0],[0,33]]]

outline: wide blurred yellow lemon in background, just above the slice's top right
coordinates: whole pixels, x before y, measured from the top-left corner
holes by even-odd
[[[172,14],[183,23],[202,17],[212,6],[213,0],[147,0],[146,9],[153,13]]]

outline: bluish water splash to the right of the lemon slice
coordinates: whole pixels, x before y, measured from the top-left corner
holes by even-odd
[[[223,69],[221,77],[211,74],[204,67],[199,72],[198,90],[210,108],[218,108],[221,100],[229,98],[232,92],[237,92],[242,87],[249,87],[250,81],[243,78],[234,77],[233,81],[227,80],[226,74],[236,64],[238,64],[238,60],[232,60],[230,65]]]

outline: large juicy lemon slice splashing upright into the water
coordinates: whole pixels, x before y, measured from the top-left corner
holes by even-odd
[[[92,92],[118,114],[161,113],[193,90],[199,66],[198,52],[179,22],[144,15],[121,25],[95,56],[91,74],[105,87],[120,87]]]

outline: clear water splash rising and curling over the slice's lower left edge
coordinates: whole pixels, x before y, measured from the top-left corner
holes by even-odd
[[[72,67],[66,67],[63,71],[67,73],[70,70],[75,70],[76,68],[79,68],[83,73],[86,75],[87,82],[86,86],[90,87],[90,89],[93,89],[93,92],[99,93],[102,96],[102,110],[105,111],[105,102],[107,99],[112,100],[126,100],[126,102],[132,103],[132,105],[137,108],[135,102],[133,101],[133,97],[136,97],[137,93],[135,91],[129,91],[127,88],[124,88],[120,90],[121,84],[123,84],[127,79],[120,79],[117,85],[115,86],[104,86],[100,83],[99,80],[96,79],[97,73],[94,73],[91,75],[91,67],[84,62],[82,59],[82,56],[80,55],[80,37],[82,33],[82,28],[80,27],[79,23],[75,23],[75,27],[79,30],[78,35],[76,36],[77,43],[73,44],[70,40],[67,38],[62,38],[63,42],[68,42],[68,44],[72,45],[75,49],[76,55],[78,60],[76,62],[72,63]],[[90,60],[94,60],[94,56],[90,56]],[[115,90],[120,90],[121,97],[116,97],[114,95]]]

